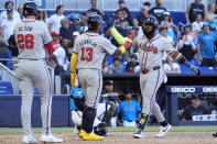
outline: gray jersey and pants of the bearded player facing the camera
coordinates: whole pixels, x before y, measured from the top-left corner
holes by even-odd
[[[139,46],[140,88],[143,97],[142,112],[152,113],[159,122],[162,122],[164,117],[155,101],[155,93],[165,76],[162,69],[163,53],[172,53],[175,49],[170,41],[160,35],[155,35],[151,41],[148,41],[144,35],[139,35],[132,45]]]

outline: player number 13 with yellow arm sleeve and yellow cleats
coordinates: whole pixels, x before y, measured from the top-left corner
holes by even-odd
[[[78,80],[86,99],[83,110],[82,130],[79,131],[79,136],[83,140],[95,141],[104,139],[104,136],[98,136],[91,132],[102,87],[102,59],[106,54],[120,55],[124,53],[130,44],[130,41],[127,41],[117,49],[109,40],[99,35],[100,30],[101,16],[97,14],[90,15],[88,18],[88,32],[76,37],[70,57],[72,86],[75,86],[76,63],[78,62]]]

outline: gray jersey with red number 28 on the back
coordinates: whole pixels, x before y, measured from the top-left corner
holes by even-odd
[[[14,34],[19,47],[19,58],[45,58],[44,44],[52,42],[52,37],[44,22],[25,19],[15,25]]]

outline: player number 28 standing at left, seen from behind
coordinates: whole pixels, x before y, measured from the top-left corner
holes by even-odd
[[[51,78],[45,63],[45,49],[53,48],[52,37],[46,24],[37,21],[37,5],[26,2],[23,5],[25,20],[15,25],[14,35],[19,47],[19,63],[15,68],[22,92],[21,119],[23,126],[23,143],[36,143],[31,129],[31,108],[33,88],[41,95],[42,142],[62,142],[51,132]]]

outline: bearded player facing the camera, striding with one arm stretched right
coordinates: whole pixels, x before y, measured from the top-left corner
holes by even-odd
[[[139,47],[140,56],[140,88],[143,98],[142,114],[133,137],[142,139],[143,130],[149,122],[150,114],[154,114],[160,123],[160,133],[158,137],[164,136],[172,128],[164,119],[159,104],[155,101],[155,93],[159,87],[162,85],[165,74],[162,68],[163,53],[166,52],[178,63],[187,66],[194,70],[197,75],[200,70],[189,65],[186,58],[171,45],[170,41],[161,35],[156,35],[158,21],[154,16],[148,16],[142,23],[143,34],[137,36],[132,45]],[[115,38],[121,44],[124,38],[120,35],[117,36],[117,31],[112,27],[111,33],[115,34]]]

